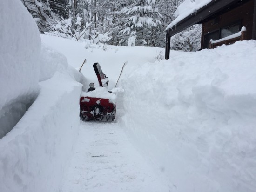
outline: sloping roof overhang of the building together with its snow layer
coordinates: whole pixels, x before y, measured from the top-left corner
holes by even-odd
[[[248,0],[185,0],[177,9],[177,18],[171,22],[166,31],[168,35],[175,35],[189,26],[202,23],[203,20],[213,17],[216,13],[224,11],[235,3]]]

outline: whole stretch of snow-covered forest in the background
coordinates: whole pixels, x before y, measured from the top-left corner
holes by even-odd
[[[165,47],[165,29],[184,0],[21,1],[41,33],[111,45]],[[200,27],[192,26],[172,38],[171,48],[197,50],[200,38]]]

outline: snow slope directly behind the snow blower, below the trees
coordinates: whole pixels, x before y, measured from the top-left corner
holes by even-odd
[[[98,86],[98,79],[93,68],[94,63],[100,63],[102,71],[109,79],[108,88],[112,89],[115,87],[125,61],[128,61],[128,65],[123,73],[132,73],[133,66],[141,66],[145,62],[154,62],[157,54],[164,51],[164,49],[158,47],[138,46],[104,45],[104,48],[85,48],[85,42],[49,35],[41,35],[41,40],[44,44],[64,54],[67,57],[68,64],[74,68],[80,68],[84,59],[87,59],[86,64],[84,64],[81,70],[81,73],[84,74],[88,82],[86,91],[89,88],[90,82],[94,82],[95,86]]]

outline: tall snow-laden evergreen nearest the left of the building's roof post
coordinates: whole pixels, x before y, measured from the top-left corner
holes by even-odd
[[[162,16],[155,7],[155,0],[131,0],[121,12],[126,16],[125,28],[120,31],[124,36],[121,45],[155,46],[159,20]]]

